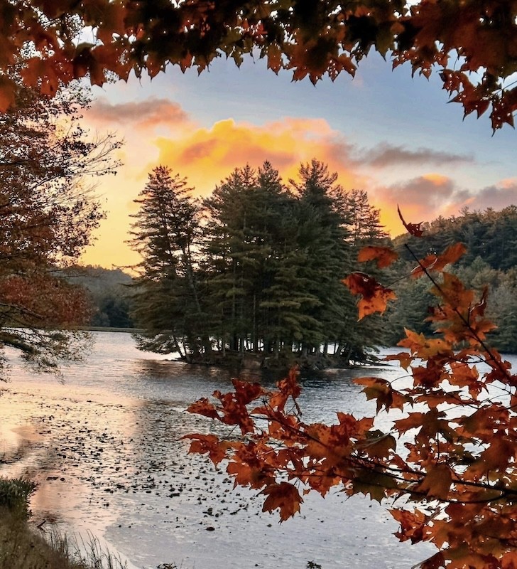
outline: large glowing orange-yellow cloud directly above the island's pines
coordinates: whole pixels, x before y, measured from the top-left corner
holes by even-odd
[[[364,187],[367,181],[349,159],[347,143],[323,119],[284,118],[260,126],[225,119],[209,129],[191,129],[182,137],[160,137],[155,144],[157,164],[187,176],[202,195],[236,167],[256,168],[266,160],[285,181],[296,178],[300,162],[312,158],[337,171],[345,188]]]

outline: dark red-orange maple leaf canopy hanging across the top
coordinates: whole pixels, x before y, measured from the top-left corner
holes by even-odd
[[[513,0],[1,0],[0,16],[3,110],[21,60],[26,85],[53,95],[72,78],[154,77],[169,63],[202,71],[220,55],[265,58],[315,83],[353,76],[371,48],[425,77],[439,70],[464,114],[490,109],[494,129],[517,109]]]

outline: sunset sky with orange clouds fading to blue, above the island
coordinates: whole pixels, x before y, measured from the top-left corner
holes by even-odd
[[[516,133],[507,127],[492,136],[488,116],[463,121],[437,75],[411,78],[406,66],[392,72],[372,53],[354,80],[343,75],[314,87],[290,79],[261,60],[238,69],[221,59],[200,76],[170,68],[152,82],[94,87],[87,125],[124,139],[124,166],[97,188],[107,219],[82,262],[138,262],[124,243],[129,216],[158,164],[207,196],[236,166],[268,160],[288,181],[301,161],[316,158],[337,171],[345,189],[369,193],[392,235],[403,231],[397,203],[413,223],[464,206],[517,203]]]

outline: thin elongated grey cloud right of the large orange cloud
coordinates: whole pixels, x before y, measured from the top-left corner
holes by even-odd
[[[355,156],[357,154],[354,153]],[[391,144],[378,144],[373,149],[362,150],[361,158],[357,158],[359,164],[369,164],[376,168],[388,166],[419,166],[420,164],[457,164],[474,161],[474,156],[469,154],[451,154],[450,152],[437,151],[429,148],[406,149]]]

